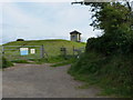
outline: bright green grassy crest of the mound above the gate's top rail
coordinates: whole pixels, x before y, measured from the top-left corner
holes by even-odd
[[[54,44],[58,47],[62,47],[62,46],[66,46],[66,47],[70,47],[70,46],[75,46],[75,47],[83,47],[85,46],[84,42],[74,42],[74,41],[69,41],[69,40],[61,40],[61,39],[51,39],[51,40],[29,40],[29,41],[12,41],[12,42],[8,42],[3,46],[41,46],[41,44],[44,44],[45,47],[47,46],[53,46]]]

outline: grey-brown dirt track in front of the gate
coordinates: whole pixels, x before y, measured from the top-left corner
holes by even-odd
[[[3,98],[96,98],[99,89],[79,89],[83,82],[66,73],[70,66],[16,64],[2,76]]]

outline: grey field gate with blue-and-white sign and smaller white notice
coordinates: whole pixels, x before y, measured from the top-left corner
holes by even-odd
[[[2,46],[2,54],[8,60],[28,60],[44,58],[43,46]]]

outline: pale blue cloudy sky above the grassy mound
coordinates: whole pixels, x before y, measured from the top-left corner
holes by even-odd
[[[24,40],[65,39],[78,30],[82,41],[101,34],[90,26],[89,6],[65,2],[4,2],[0,3],[0,43]]]

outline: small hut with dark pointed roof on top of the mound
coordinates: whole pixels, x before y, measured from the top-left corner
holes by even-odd
[[[81,33],[76,30],[70,32],[70,40],[75,42],[81,42]]]

